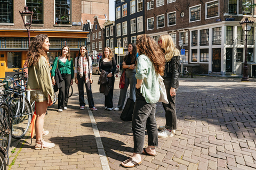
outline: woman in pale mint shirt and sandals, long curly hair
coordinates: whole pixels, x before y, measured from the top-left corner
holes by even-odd
[[[158,145],[156,125],[156,103],[159,100],[158,74],[164,74],[165,60],[156,41],[142,35],[136,42],[140,56],[136,65],[136,101],[132,117],[133,155],[122,162],[126,168],[141,165],[140,154],[155,156]],[[143,148],[145,129],[148,133],[148,147]]]

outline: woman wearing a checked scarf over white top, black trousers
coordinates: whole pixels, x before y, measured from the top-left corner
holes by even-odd
[[[84,84],[86,88],[89,108],[92,111],[97,111],[94,107],[92,97],[92,58],[87,54],[86,46],[81,46],[78,56],[75,58],[75,82],[78,87],[80,109],[84,109]]]

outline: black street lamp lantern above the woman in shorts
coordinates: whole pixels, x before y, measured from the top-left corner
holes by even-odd
[[[26,27],[26,29],[28,31],[28,46],[30,46],[30,31],[29,31],[29,29],[30,29],[31,23],[32,23],[33,11],[32,12],[28,11],[28,7],[25,5],[24,11],[21,11],[20,15],[21,15],[22,21],[24,23],[24,26]]]

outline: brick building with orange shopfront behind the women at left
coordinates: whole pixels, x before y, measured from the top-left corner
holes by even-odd
[[[68,45],[71,56],[76,57],[79,47],[86,44],[87,32],[82,31],[81,0],[10,0],[0,2],[0,77],[11,75],[13,68],[20,68],[26,60],[28,34],[19,11],[28,6],[33,10],[30,28],[31,39],[44,33],[49,36],[50,50],[47,55],[50,62],[60,54],[64,45]]]

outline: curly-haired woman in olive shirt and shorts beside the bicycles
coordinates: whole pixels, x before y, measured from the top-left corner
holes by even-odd
[[[36,101],[36,143],[35,149],[50,149],[54,143],[45,142],[42,138],[49,131],[44,131],[44,116],[47,106],[52,105],[53,88],[50,77],[50,64],[45,51],[49,50],[50,42],[47,35],[37,35],[29,46],[28,58],[28,84],[27,90],[31,91],[31,99]]]

